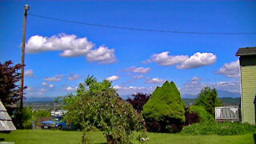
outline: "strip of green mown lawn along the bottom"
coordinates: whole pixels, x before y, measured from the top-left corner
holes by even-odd
[[[136,135],[136,134],[135,134]],[[92,132],[90,134],[93,143],[106,143],[106,138],[102,132]],[[182,134],[158,134],[148,133],[150,138],[146,143],[254,143],[254,134],[218,136],[203,135],[192,136]],[[15,144],[41,144],[41,143],[79,143],[81,141],[81,131],[63,131],[63,130],[18,130],[10,134],[0,134],[0,138],[5,138],[6,142],[15,142]],[[134,143],[138,143],[134,141]]]

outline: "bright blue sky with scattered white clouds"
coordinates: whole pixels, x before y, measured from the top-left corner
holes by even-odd
[[[23,6],[29,14],[106,26],[189,32],[256,32],[256,2],[0,2],[0,62],[20,63]],[[151,93],[166,80],[181,94],[203,86],[240,92],[240,47],[256,34],[172,34],[85,26],[27,16],[26,98],[75,91],[88,74],[120,95]]]

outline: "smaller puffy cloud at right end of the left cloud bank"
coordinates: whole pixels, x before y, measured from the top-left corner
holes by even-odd
[[[86,54],[86,59],[89,62],[96,61],[102,64],[116,62],[114,49],[108,49],[106,46],[99,46],[96,50],[90,50],[90,52]]]

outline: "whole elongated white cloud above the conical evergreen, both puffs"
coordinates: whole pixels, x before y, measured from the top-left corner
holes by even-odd
[[[188,55],[169,55],[169,52],[162,52],[160,54],[153,54],[151,61],[161,66],[177,65],[177,69],[193,69],[200,66],[208,66],[216,62],[216,55],[212,53],[199,53]],[[147,60],[150,62],[150,60]],[[143,61],[143,63],[146,63]]]

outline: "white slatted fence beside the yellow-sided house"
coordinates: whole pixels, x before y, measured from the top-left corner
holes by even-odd
[[[217,122],[238,122],[239,107],[238,106],[219,106],[215,107],[215,120]]]

